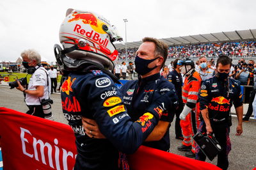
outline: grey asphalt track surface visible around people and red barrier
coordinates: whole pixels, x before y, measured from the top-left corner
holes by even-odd
[[[60,93],[53,93],[51,98],[54,101],[54,104],[52,104],[54,119],[67,124],[61,112]],[[24,104],[22,92],[4,86],[0,86],[0,107],[7,107],[20,112],[28,111],[28,107]],[[175,120],[173,120],[172,126],[170,127],[170,152],[177,155],[184,155],[185,152],[177,150],[177,146],[181,144],[181,141],[175,139],[174,122]],[[248,123],[243,123],[243,134],[241,136],[235,135],[236,125],[237,118],[232,117],[232,127],[230,128],[232,150],[228,157],[228,169],[253,169],[256,167],[256,121],[250,120]],[[206,161],[216,164],[217,158],[214,158],[212,162],[208,159]]]

